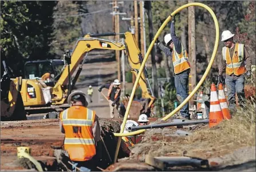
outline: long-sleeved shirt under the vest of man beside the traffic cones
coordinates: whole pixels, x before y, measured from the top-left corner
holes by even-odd
[[[235,50],[235,46],[233,46],[231,49],[229,49],[231,58],[233,57],[234,50]],[[246,65],[246,70],[251,71],[251,57],[250,57],[246,47],[244,47],[243,52],[244,52],[243,63],[245,63],[245,65]],[[226,70],[226,65],[227,65],[226,61],[221,56],[220,63],[219,63],[219,75],[222,75],[222,73]]]

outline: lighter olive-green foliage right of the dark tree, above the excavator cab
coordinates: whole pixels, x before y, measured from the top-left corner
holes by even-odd
[[[54,40],[51,52],[55,58],[62,58],[66,50],[72,50],[81,35],[79,8],[71,1],[59,1],[54,8]]]

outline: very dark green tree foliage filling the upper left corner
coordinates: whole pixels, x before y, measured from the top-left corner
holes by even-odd
[[[50,58],[56,3],[1,1],[1,46],[15,75],[21,75],[24,59]]]

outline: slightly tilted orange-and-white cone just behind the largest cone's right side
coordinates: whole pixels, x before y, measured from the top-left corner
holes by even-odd
[[[223,90],[222,83],[219,83],[218,90],[219,90],[219,103],[222,110],[223,118],[231,119],[231,115],[230,115],[229,107],[227,106],[227,99]]]

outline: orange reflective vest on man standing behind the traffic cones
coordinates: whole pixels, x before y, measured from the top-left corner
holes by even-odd
[[[235,49],[233,57],[230,56],[230,51],[228,47],[222,47],[222,57],[226,61],[226,74],[231,75],[242,75],[246,72],[244,57],[244,47],[245,45],[241,43],[235,43]]]

